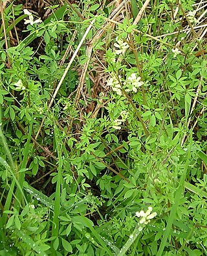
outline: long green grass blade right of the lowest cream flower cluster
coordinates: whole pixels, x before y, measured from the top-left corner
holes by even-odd
[[[169,237],[169,233],[171,230],[171,225],[173,224],[173,220],[175,220],[175,214],[177,212],[177,208],[179,207],[180,204],[180,199],[182,198],[182,192],[184,189],[184,181],[186,179],[186,173],[188,170],[188,163],[189,163],[189,159],[190,159],[190,151],[191,151],[191,146],[192,146],[192,131],[190,131],[190,143],[189,143],[189,147],[188,147],[188,155],[187,155],[187,159],[186,159],[186,164],[184,166],[184,170],[182,172],[182,176],[180,177],[180,183],[179,183],[179,187],[177,188],[177,192],[175,194],[175,203],[171,209],[171,212],[169,214],[169,218],[168,218],[168,223],[166,226],[166,230],[164,231],[164,234],[162,236],[162,242],[160,244],[157,256],[162,256],[162,253],[164,251],[164,248],[166,246],[168,237]]]

